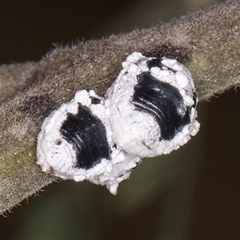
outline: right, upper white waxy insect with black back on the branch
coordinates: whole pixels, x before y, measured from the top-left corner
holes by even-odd
[[[106,96],[121,149],[139,157],[167,154],[197,133],[194,84],[182,64],[133,53],[123,67]]]

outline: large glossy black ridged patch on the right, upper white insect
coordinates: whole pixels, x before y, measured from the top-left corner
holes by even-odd
[[[157,80],[149,72],[138,75],[132,103],[137,110],[144,110],[156,119],[161,130],[161,139],[173,139],[190,123],[190,109],[185,107],[178,89]],[[185,114],[180,114],[179,109],[184,109]]]

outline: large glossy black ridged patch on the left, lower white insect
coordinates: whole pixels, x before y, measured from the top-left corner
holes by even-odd
[[[79,104],[77,114],[68,113],[60,132],[76,151],[76,167],[90,169],[111,159],[105,126],[86,106]]]

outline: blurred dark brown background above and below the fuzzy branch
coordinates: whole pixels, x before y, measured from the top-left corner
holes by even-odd
[[[55,44],[148,28],[217,1],[0,1],[0,63],[38,61]],[[64,181],[0,217],[0,239],[240,239],[240,105],[230,90],[198,105],[201,130],[144,159],[112,196]]]

